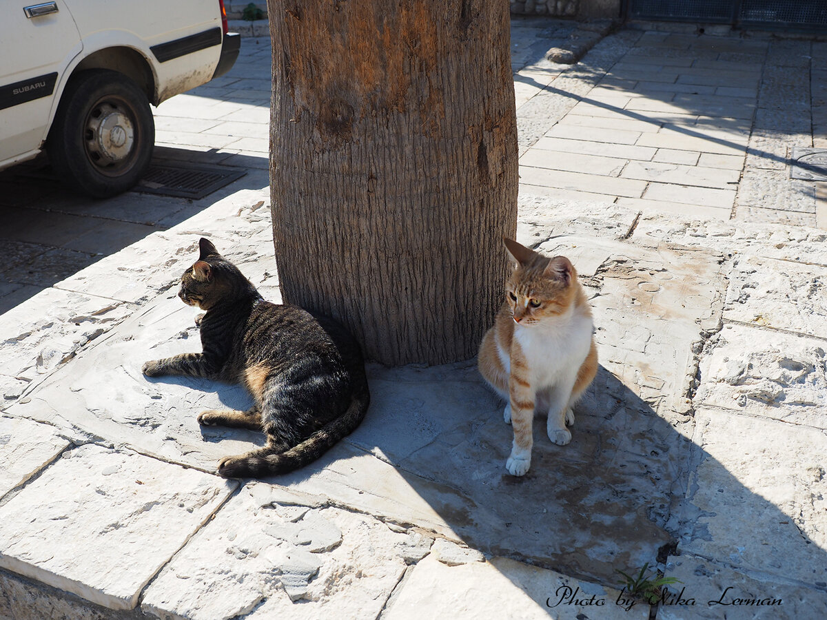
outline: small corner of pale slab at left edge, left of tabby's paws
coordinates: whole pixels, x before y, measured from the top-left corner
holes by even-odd
[[[0,417],[0,498],[49,465],[69,445],[55,427]]]

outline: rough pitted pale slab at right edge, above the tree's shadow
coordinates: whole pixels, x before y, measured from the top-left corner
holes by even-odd
[[[700,368],[696,402],[827,429],[827,344],[727,325]]]

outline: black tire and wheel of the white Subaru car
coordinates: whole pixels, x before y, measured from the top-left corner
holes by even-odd
[[[69,79],[46,150],[70,187],[95,198],[127,191],[146,172],[155,145],[149,101],[126,75],[108,69]]]

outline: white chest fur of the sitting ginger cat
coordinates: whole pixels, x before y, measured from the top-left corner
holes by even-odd
[[[515,325],[514,340],[523,350],[532,383],[539,389],[573,379],[591,346],[591,317],[566,312],[534,325]]]

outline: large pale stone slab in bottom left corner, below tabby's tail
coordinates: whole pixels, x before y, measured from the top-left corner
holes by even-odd
[[[134,608],[236,486],[132,452],[80,446],[0,507],[0,566],[108,608]]]

